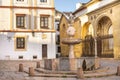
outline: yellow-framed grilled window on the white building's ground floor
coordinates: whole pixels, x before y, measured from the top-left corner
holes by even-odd
[[[16,38],[16,49],[25,49],[25,37]]]

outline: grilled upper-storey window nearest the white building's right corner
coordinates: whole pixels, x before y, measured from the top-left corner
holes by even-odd
[[[48,29],[49,26],[49,16],[40,16],[40,27]]]

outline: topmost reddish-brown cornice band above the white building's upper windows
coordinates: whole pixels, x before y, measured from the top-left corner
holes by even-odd
[[[31,7],[31,6],[0,6],[0,8],[20,8],[20,9],[52,9],[55,10],[54,7]]]

